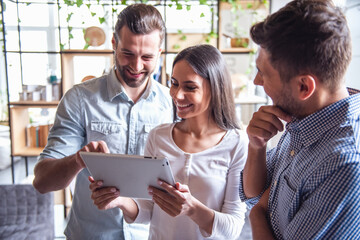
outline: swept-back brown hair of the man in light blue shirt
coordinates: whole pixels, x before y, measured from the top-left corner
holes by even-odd
[[[120,40],[119,33],[125,25],[135,34],[149,34],[159,30],[160,45],[164,41],[165,23],[160,12],[154,6],[137,3],[122,10],[115,25],[116,42]]]

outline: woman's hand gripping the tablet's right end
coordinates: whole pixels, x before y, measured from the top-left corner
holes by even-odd
[[[172,217],[179,215],[190,216],[194,212],[196,205],[195,198],[191,195],[189,187],[176,183],[175,187],[159,180],[159,185],[164,188],[164,191],[149,187],[149,194],[152,195],[153,201],[159,207]]]

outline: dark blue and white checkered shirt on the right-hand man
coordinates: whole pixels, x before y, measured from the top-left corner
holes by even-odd
[[[288,123],[268,151],[268,221],[277,239],[360,239],[359,120],[356,94]],[[240,186],[241,199],[256,204],[260,196],[246,199]]]

